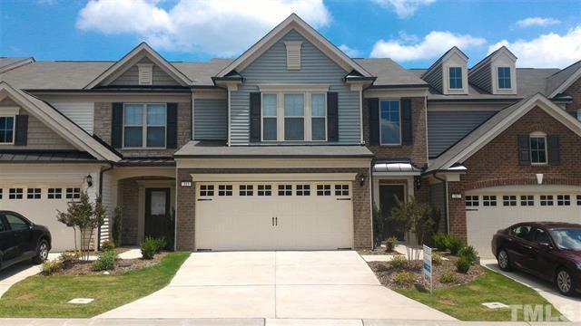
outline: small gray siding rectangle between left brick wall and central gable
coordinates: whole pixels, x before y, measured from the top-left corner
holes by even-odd
[[[196,99],[193,103],[193,139],[228,139],[228,100]]]

